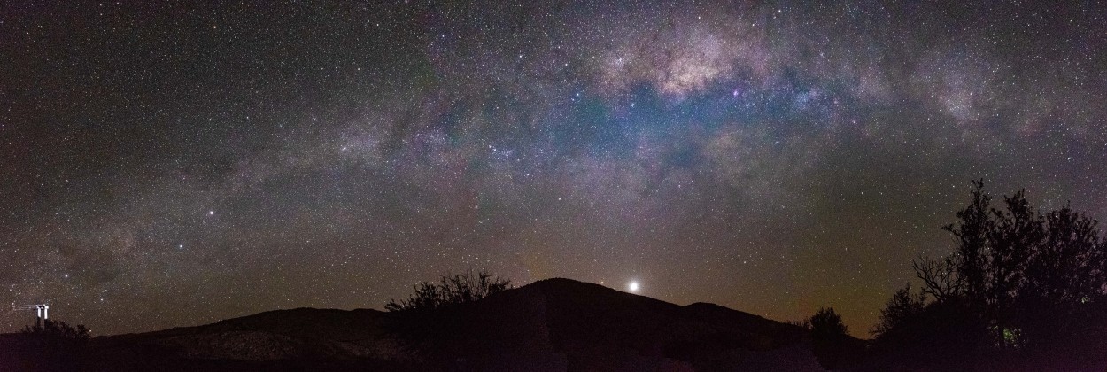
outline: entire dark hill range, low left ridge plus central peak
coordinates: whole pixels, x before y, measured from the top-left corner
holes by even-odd
[[[0,356],[0,365],[28,365],[19,364],[25,355]],[[803,328],[569,279],[433,311],[278,310],[97,337],[76,360],[81,369],[112,371],[821,370]]]

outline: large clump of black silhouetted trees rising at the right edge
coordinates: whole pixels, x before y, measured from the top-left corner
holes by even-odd
[[[949,341],[939,334],[979,340],[984,352],[1026,353],[1105,331],[1107,239],[1095,219],[1068,205],[1043,213],[1023,189],[993,206],[974,180],[969,204],[943,229],[954,250],[912,261],[922,288],[892,296],[872,329],[878,341]]]

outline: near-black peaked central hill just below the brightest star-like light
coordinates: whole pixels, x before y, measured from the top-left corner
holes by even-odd
[[[438,369],[820,370],[801,328],[568,279],[401,319]]]

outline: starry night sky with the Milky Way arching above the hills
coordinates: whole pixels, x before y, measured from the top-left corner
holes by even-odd
[[[1107,11],[1044,3],[4,1],[0,302],[110,334],[487,268],[865,337],[970,179],[1107,217]]]

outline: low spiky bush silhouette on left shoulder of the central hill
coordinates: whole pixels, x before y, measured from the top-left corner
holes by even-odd
[[[437,283],[427,281],[415,285],[415,293],[406,300],[389,300],[387,311],[437,309],[444,306],[473,302],[489,294],[511,288],[511,281],[494,277],[487,271],[443,276]]]

